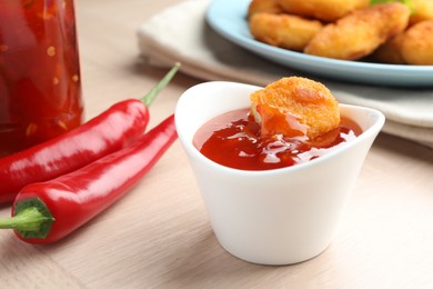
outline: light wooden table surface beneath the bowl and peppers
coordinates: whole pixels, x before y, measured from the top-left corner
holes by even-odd
[[[88,119],[167,72],[140,58],[135,32],[177,2],[78,1]],[[178,74],[152,104],[150,126],[199,82]],[[433,150],[380,134],[334,241],[303,263],[259,266],[225,252],[179,141],[129,195],[62,241],[31,246],[0,231],[0,260],[1,288],[433,288]]]

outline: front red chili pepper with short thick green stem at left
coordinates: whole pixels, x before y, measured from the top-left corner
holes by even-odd
[[[174,116],[129,147],[17,195],[12,217],[0,229],[14,229],[30,243],[51,243],[68,236],[123,197],[178,138]]]

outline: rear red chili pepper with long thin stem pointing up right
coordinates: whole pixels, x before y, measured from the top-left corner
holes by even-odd
[[[92,120],[52,140],[0,159],[0,203],[12,201],[26,185],[77,170],[135,139],[149,123],[148,107],[173,78],[175,66],[140,101],[115,103]]]

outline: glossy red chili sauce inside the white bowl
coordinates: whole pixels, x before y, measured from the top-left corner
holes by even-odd
[[[362,130],[342,118],[340,127],[315,138],[260,136],[260,126],[250,109],[233,110],[204,123],[193,144],[209,159],[241,170],[270,170],[306,162],[335,150],[359,136]]]

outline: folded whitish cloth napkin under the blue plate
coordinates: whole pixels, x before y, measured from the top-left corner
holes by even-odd
[[[433,83],[430,89],[385,88],[331,81],[291,71],[225,40],[205,22],[210,0],[172,6],[138,29],[139,48],[151,64],[182,63],[184,73],[203,80],[230,80],[265,86],[288,76],[315,79],[335,98],[382,111],[383,131],[433,147]]]

